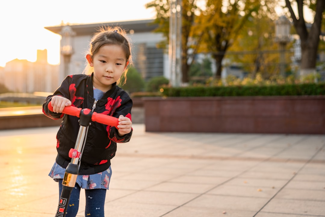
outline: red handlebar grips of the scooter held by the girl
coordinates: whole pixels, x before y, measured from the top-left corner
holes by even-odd
[[[48,109],[51,112],[53,112],[53,106],[52,106],[51,102],[48,103]],[[66,106],[66,107],[64,107],[62,113],[67,114],[67,115],[80,117],[81,110],[82,110],[82,108],[77,108],[77,107],[74,107],[74,106]],[[88,113],[91,112],[90,109],[84,109],[84,110],[89,110],[89,111],[87,111]],[[96,121],[96,122],[101,123],[101,124],[106,124],[106,125],[109,125],[109,126],[113,126],[113,127],[116,127],[116,128],[119,125],[118,118],[112,117],[112,116],[109,116],[109,115],[103,115],[103,114],[100,114],[100,113],[97,113],[97,112],[93,112],[93,114],[91,116],[91,120]]]

